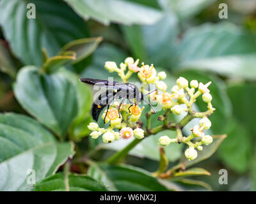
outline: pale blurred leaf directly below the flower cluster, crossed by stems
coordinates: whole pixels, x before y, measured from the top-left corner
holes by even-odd
[[[153,159],[159,161],[159,150],[158,150],[158,140],[161,136],[167,135],[170,138],[175,138],[176,133],[175,131],[161,131],[160,133],[157,133],[157,135],[148,136],[147,138],[143,139],[142,142],[140,142],[134,149],[132,149],[129,154],[132,156],[138,156],[138,157],[146,157],[148,159]],[[101,139],[101,138],[99,138]],[[126,147],[130,142],[132,142],[132,139],[128,141],[124,140],[118,140],[113,143],[108,144],[100,144],[97,148],[102,149],[113,149],[113,150],[122,150],[124,147]],[[165,147],[165,153],[166,158],[169,161],[177,161],[177,159],[180,158],[182,155],[182,145],[178,143],[172,143],[171,145],[168,145]]]

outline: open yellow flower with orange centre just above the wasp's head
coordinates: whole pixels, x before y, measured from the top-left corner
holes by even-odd
[[[138,77],[141,82],[152,83],[156,80],[156,69],[153,64],[151,66],[142,64],[140,68],[140,72],[138,73]]]

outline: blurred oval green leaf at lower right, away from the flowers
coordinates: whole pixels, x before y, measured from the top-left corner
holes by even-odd
[[[253,143],[250,135],[247,129],[234,119],[229,119],[225,126],[228,137],[221,143],[218,156],[232,170],[244,173],[248,170],[252,157]]]

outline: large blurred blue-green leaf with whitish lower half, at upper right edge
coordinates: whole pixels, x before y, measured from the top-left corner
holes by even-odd
[[[179,55],[179,69],[209,69],[227,77],[255,78],[255,37],[233,24],[189,29]]]

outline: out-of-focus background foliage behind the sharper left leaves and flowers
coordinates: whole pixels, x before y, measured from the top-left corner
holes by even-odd
[[[79,77],[103,79],[109,76],[105,61],[119,64],[131,56],[166,71],[167,84],[179,76],[212,81],[216,112],[210,117],[211,133],[228,136],[212,157],[195,164],[212,174],[199,180],[214,191],[256,190],[255,0],[35,0],[31,1],[36,6],[33,22],[26,17],[26,2],[0,0],[1,112],[28,114],[15,98],[13,82],[22,66],[42,66],[43,47],[53,56],[70,41],[102,36],[90,47],[77,45],[76,51],[87,55],[66,68]],[[227,6],[227,18],[220,18],[226,8],[221,3]],[[92,103],[92,96],[88,98]],[[204,110],[202,101],[197,105]],[[73,139],[81,152],[97,149],[93,157],[103,161],[116,145],[88,142],[90,132],[81,130],[92,121],[87,112]],[[171,166],[182,152],[182,147],[170,149]],[[126,163],[156,170],[157,142],[148,143],[138,156],[136,153],[127,157]],[[228,171],[227,185],[218,182],[221,169]]]

